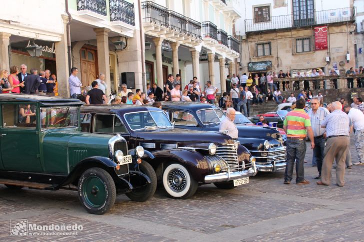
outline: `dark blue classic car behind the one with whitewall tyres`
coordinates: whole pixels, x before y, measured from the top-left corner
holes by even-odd
[[[162,102],[162,109],[168,112],[176,128],[219,131],[219,124],[225,115],[212,105],[196,102]],[[255,157],[258,171],[275,172],[285,169],[285,147],[281,134],[273,127],[237,124],[238,141]]]

